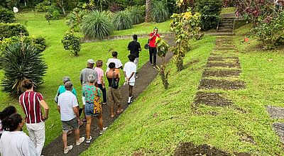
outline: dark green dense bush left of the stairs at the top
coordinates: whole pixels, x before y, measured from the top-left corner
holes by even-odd
[[[199,0],[195,2],[195,7],[201,13],[201,28],[209,30],[217,28],[219,15],[222,11],[222,0]]]

